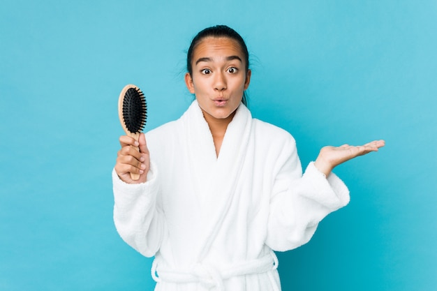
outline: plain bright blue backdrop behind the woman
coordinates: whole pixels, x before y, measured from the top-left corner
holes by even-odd
[[[110,172],[117,98],[145,91],[147,129],[191,103],[191,38],[244,36],[254,117],[286,128],[306,167],[326,144],[383,138],[341,165],[348,207],[279,253],[283,290],[436,290],[437,2],[0,3],[0,290],[151,290],[118,236]]]

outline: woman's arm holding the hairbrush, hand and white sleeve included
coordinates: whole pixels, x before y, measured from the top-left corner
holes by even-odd
[[[130,147],[131,137],[120,137],[121,150],[112,171],[114,224],[120,236],[136,251],[153,256],[165,233],[163,211],[158,201],[158,172],[149,161],[144,134],[140,135],[140,152]],[[141,165],[144,165],[143,167]],[[129,172],[140,173],[138,181]]]

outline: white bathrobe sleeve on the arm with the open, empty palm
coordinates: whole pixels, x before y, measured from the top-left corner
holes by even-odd
[[[266,244],[288,251],[306,244],[318,223],[349,202],[349,191],[334,173],[325,178],[311,162],[302,175],[295,140],[279,151],[272,177]]]

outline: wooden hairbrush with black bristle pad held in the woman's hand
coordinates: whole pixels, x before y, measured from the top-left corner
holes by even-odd
[[[141,131],[146,125],[146,97],[135,85],[126,85],[119,96],[119,118],[126,135],[138,141]],[[138,151],[140,149],[135,147]],[[131,179],[140,179],[140,174],[131,173]]]

